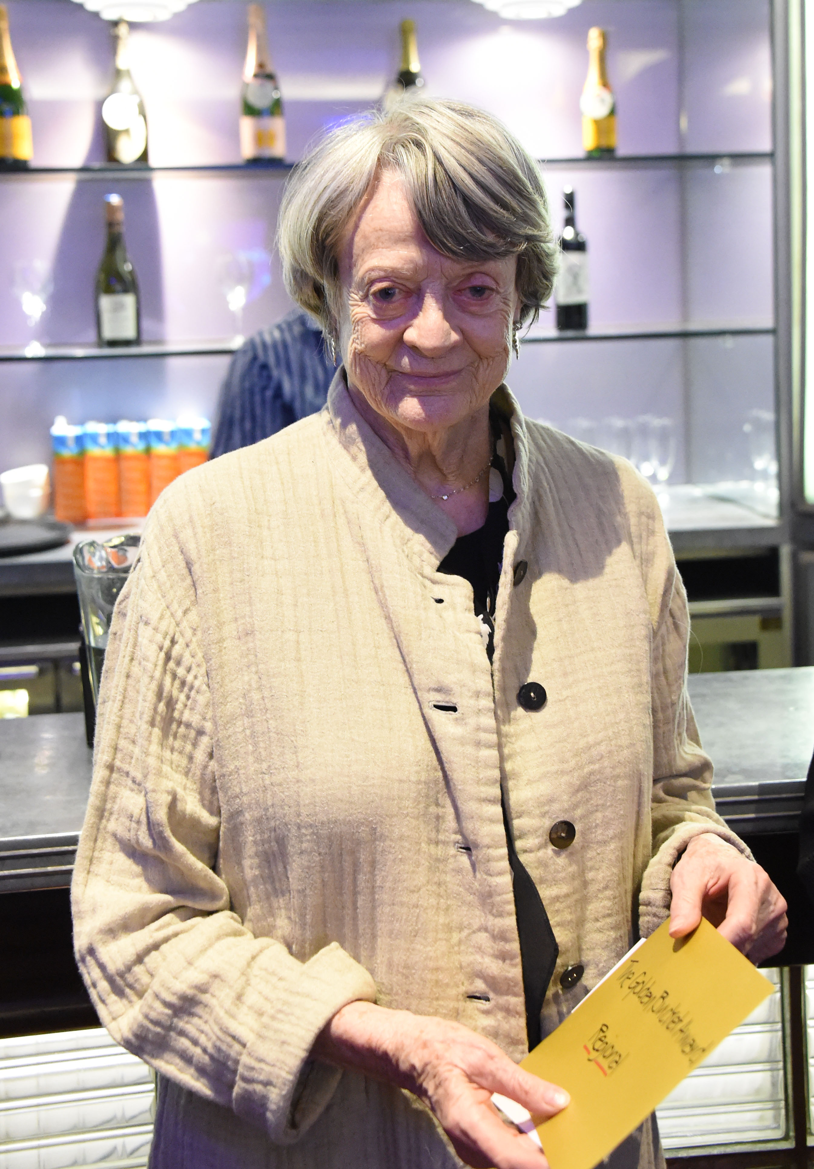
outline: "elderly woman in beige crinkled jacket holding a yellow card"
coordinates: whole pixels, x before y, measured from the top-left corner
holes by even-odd
[[[785,904],[716,815],[688,615],[623,459],[503,383],[551,292],[532,159],[419,99],[280,219],[325,409],[185,475],[111,631],[74,880],[99,1016],[159,1072],[156,1169],[545,1169],[490,1102],[637,934]],[[655,1125],[616,1164],[658,1161]]]

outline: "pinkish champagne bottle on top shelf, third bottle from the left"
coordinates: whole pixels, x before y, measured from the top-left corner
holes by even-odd
[[[284,161],[283,98],[269,56],[265,13],[260,4],[249,5],[249,43],[243,65],[242,102],[240,152],[243,161]]]

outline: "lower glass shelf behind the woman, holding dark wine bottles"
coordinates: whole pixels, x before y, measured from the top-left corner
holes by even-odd
[[[586,332],[531,332],[520,338],[523,345],[551,344],[556,341],[609,341],[650,340],[669,337],[761,337],[772,336],[772,325],[618,325],[608,328],[589,328]],[[213,341],[145,341],[144,345],[123,345],[104,348],[98,345],[46,345],[32,350],[30,346],[0,347],[0,361],[75,361],[87,358],[177,358],[200,353],[230,354],[242,343],[234,339]]]

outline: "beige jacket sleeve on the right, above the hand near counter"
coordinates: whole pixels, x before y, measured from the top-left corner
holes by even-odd
[[[672,867],[694,836],[713,832],[752,855],[715,810],[712,763],[704,754],[687,692],[690,616],[661,509],[648,484],[628,482],[634,552],[640,559],[653,620],[653,849],[639,898],[639,933],[648,936],[670,912]]]

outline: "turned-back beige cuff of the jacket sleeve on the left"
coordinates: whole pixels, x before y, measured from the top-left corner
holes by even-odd
[[[375,983],[337,942],[303,964],[296,985],[271,985],[268,1014],[257,1021],[237,1068],[237,1115],[263,1128],[277,1144],[297,1141],[342,1078],[338,1067],[311,1060],[311,1049],[329,1019],[358,999],[375,1002]]]

